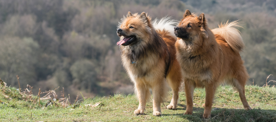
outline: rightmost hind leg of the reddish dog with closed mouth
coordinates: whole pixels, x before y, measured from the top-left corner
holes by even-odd
[[[245,69],[245,68],[244,68]],[[245,110],[252,110],[248,105],[248,102],[245,97],[245,83],[247,81],[247,72],[244,70],[243,72],[236,73],[237,78],[233,78],[233,86],[239,91],[240,100],[243,103],[243,108]]]

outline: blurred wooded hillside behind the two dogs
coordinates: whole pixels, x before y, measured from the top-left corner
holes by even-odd
[[[18,88],[19,75],[21,88],[32,85],[35,94],[58,86],[71,98],[133,93],[116,45],[118,21],[128,11],[180,20],[186,9],[205,13],[210,28],[242,21],[247,83],[275,80],[275,0],[0,0],[0,77]]]

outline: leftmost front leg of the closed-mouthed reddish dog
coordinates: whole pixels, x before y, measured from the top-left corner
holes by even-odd
[[[192,115],[195,84],[192,80],[189,80],[189,79],[185,79],[184,84],[185,84],[185,93],[186,93],[186,102],[187,102],[186,112],[184,113],[184,115],[185,114]]]

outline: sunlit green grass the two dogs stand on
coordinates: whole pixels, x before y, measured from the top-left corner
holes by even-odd
[[[171,95],[171,93],[170,93]],[[135,115],[133,112],[138,107],[138,100],[135,95],[115,94],[110,97],[94,97],[85,99],[79,104],[62,107],[59,102],[52,106],[45,107],[48,100],[41,100],[41,106],[33,100],[36,96],[26,97],[19,94],[16,88],[0,88],[0,121],[29,121],[29,122],[82,122],[82,121],[255,121],[275,122],[276,121],[276,88],[246,86],[246,96],[252,110],[245,111],[238,92],[230,86],[220,86],[215,95],[215,103],[211,112],[211,118],[203,119],[205,101],[205,90],[195,89],[193,115],[183,115],[186,111],[186,97],[184,92],[179,94],[179,102],[176,110],[169,110],[162,104],[162,116],[152,115],[152,102],[146,105],[145,115]],[[86,104],[102,102],[94,108]],[[168,105],[170,98],[164,103]],[[43,106],[42,106],[43,105]]]

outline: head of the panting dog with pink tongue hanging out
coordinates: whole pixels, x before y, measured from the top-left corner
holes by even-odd
[[[119,22],[117,35],[121,38],[117,45],[135,45],[144,40],[143,38],[147,38],[152,28],[150,21],[151,17],[144,12],[140,15],[128,12],[128,15]]]

